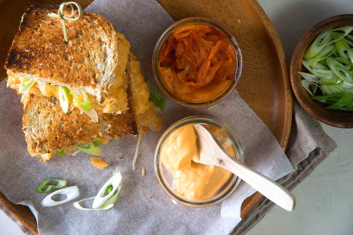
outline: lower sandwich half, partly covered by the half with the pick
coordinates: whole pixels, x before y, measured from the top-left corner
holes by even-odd
[[[55,97],[23,96],[23,131],[32,156],[42,155],[43,161],[50,157],[43,155],[65,150],[76,145],[97,140],[119,138],[125,135],[138,135],[161,129],[161,118],[156,115],[149,100],[149,89],[141,73],[140,63],[130,52],[124,73],[129,97],[126,113],[113,115],[97,111],[98,122],[82,115],[71,106],[68,113],[61,111],[59,100]]]

